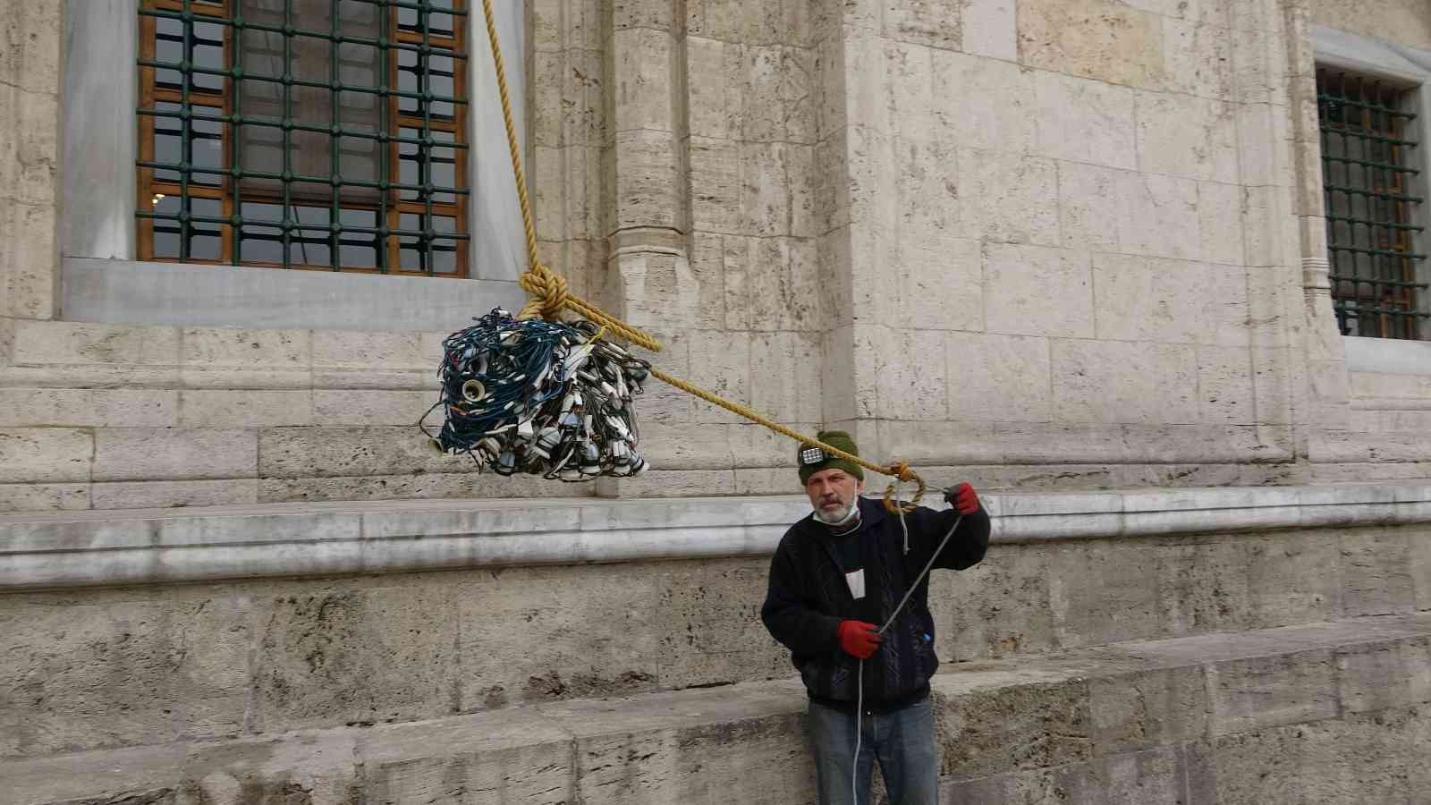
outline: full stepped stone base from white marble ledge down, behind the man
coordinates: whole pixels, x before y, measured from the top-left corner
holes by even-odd
[[[989,496],[946,802],[1417,802],[1431,487]],[[796,498],[0,519],[4,804],[811,802]],[[123,586],[116,586],[123,584]]]

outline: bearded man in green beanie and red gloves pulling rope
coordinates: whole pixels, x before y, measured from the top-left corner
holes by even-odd
[[[820,441],[859,455],[844,431]],[[939,667],[929,579],[914,589],[899,617],[880,635],[900,599],[954,526],[934,567],[963,570],[989,547],[989,514],[969,484],[944,496],[953,508],[919,507],[900,519],[883,503],[864,500],[859,464],[801,445],[800,481],[814,511],[786,531],[770,563],[770,587],[760,610],[766,629],[790,649],[810,693],[810,738],[821,805],[869,799],[874,759],[890,802],[932,805],[939,789],[939,748],[929,678]],[[863,669],[860,663],[863,662]],[[856,680],[863,676],[863,709]],[[856,763],[856,729],[860,756]]]

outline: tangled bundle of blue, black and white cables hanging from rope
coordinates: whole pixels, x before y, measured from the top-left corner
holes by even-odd
[[[633,397],[651,364],[588,321],[517,319],[501,308],[442,342],[445,423],[432,437],[511,476],[564,481],[645,470]],[[428,434],[431,435],[431,434]]]

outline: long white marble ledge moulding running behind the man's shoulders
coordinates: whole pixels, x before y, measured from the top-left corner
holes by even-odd
[[[0,589],[767,556],[801,497],[416,500],[0,516]],[[995,541],[1431,521],[1431,484],[990,494]]]

